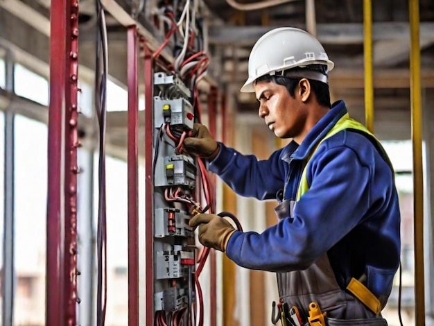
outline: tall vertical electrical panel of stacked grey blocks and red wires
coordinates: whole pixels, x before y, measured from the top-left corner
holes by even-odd
[[[154,74],[153,268],[155,316],[184,316],[196,304],[196,246],[189,227],[196,191],[196,158],[182,141],[193,128],[191,92],[175,75]]]

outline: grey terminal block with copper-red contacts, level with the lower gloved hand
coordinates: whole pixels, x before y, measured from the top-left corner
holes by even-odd
[[[190,215],[175,208],[155,209],[155,237],[193,237]]]

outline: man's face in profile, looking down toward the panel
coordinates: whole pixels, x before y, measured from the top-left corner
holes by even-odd
[[[299,86],[295,98],[285,86],[273,82],[259,81],[253,85],[259,101],[259,117],[279,138],[295,138],[304,129],[306,108],[300,99]]]

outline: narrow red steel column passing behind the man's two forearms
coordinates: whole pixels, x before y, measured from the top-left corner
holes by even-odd
[[[209,98],[208,98],[208,121],[209,121],[209,132],[211,132],[212,137],[216,139],[216,126],[217,126],[217,96],[218,96],[218,89],[217,87],[211,86],[209,87]],[[212,207],[214,209],[216,208],[216,175],[212,174],[209,176],[210,180],[210,188],[211,188],[211,200],[213,201]],[[216,282],[217,282],[217,276],[216,276],[216,252],[215,250],[211,250],[209,252],[209,269],[210,269],[210,289],[209,292],[211,293],[211,298],[209,301],[210,305],[210,325],[216,326],[217,323],[217,289],[216,289]]]

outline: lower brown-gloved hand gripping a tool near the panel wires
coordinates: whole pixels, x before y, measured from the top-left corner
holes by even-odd
[[[216,214],[198,214],[191,218],[191,228],[199,226],[199,241],[205,247],[226,251],[227,241],[236,230],[234,227]]]

